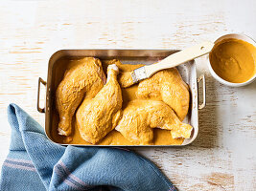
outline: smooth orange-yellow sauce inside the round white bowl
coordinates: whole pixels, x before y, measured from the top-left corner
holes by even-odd
[[[216,74],[231,83],[248,81],[256,71],[256,48],[235,38],[217,43],[210,53],[210,63]]]

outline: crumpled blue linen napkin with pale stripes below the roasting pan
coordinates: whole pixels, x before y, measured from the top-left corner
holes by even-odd
[[[150,160],[131,151],[53,143],[15,104],[8,118],[12,138],[0,190],[176,190]]]

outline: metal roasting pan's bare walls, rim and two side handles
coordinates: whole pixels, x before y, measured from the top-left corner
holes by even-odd
[[[54,141],[51,136],[51,129],[57,128],[58,123],[53,122],[54,113],[56,112],[55,92],[58,87],[64,71],[66,63],[57,62],[63,56],[68,57],[85,57],[92,56],[102,60],[104,59],[119,59],[123,64],[152,64],[156,61],[167,57],[168,55],[177,52],[177,50],[60,50],[54,53],[49,60],[47,82],[41,77],[38,79],[37,92],[37,110],[40,113],[45,113],[45,133],[49,139]],[[191,138],[187,138],[181,145],[120,145],[120,146],[183,146],[188,145],[198,136],[198,110],[205,106],[205,78],[204,74],[197,78],[197,70],[195,60],[186,62],[177,67],[183,80],[190,87],[190,108],[187,117],[183,122],[186,122],[194,127]],[[202,82],[202,103],[198,104],[198,83]],[[45,108],[40,108],[40,85],[46,86]],[[55,114],[56,115],[56,114]],[[55,141],[54,141],[55,142]],[[68,144],[62,144],[68,145]],[[76,146],[95,146],[81,145]],[[114,145],[96,145],[96,146],[114,146]],[[117,145],[115,145],[117,146]]]

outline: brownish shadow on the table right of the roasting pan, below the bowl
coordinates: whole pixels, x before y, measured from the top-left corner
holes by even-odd
[[[221,147],[222,120],[227,114],[221,112],[221,102],[230,101],[230,93],[256,90],[256,80],[244,87],[232,88],[219,83],[210,74],[206,75],[206,106],[198,111],[198,138],[191,144],[194,147]],[[201,95],[199,89],[199,95]]]

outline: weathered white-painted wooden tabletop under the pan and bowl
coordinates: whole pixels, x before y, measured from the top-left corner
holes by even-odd
[[[38,76],[59,49],[182,49],[224,33],[256,39],[256,1],[11,1],[0,3],[0,163],[14,102],[44,125],[36,111]],[[196,141],[183,148],[138,148],[180,190],[256,189],[256,82],[228,88],[208,73],[207,106]]]

